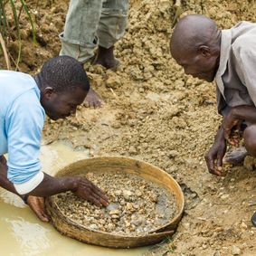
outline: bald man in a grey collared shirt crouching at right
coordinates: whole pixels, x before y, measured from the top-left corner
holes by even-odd
[[[218,111],[223,122],[205,155],[208,170],[223,175],[226,143],[238,146],[233,128],[242,128],[246,155],[256,156],[256,24],[241,22],[219,30],[199,14],[182,18],[171,38],[171,54],[186,74],[217,83]],[[252,223],[256,225],[256,215]]]

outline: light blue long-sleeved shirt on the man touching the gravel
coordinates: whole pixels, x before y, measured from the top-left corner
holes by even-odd
[[[8,179],[24,184],[40,172],[45,111],[33,77],[0,71],[0,156],[8,153]]]

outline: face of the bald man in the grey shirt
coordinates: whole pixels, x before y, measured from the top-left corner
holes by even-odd
[[[204,81],[213,81],[218,69],[218,57],[210,52],[172,52],[175,61],[184,68],[185,74]]]

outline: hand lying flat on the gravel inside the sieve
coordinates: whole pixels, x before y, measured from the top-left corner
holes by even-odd
[[[85,177],[80,177],[77,188],[73,191],[74,194],[86,199],[92,204],[96,204],[97,206],[109,205],[108,197],[100,190],[100,188],[93,183],[90,182]]]

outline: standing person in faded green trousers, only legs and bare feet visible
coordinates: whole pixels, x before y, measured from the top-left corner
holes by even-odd
[[[123,37],[128,23],[128,0],[71,0],[64,31],[60,34],[60,55],[68,55],[81,63],[92,62],[106,69],[116,69],[119,61],[114,56],[114,44]],[[102,100],[90,88],[85,103],[100,107]]]

